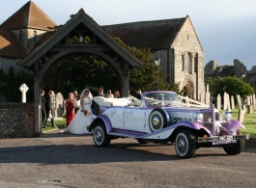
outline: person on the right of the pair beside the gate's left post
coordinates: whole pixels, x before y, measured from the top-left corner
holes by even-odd
[[[49,91],[49,93],[46,95],[45,100],[46,100],[45,102],[46,121],[48,120],[48,118],[50,118],[51,126],[57,127],[55,125],[55,119],[54,119],[56,99],[55,99],[55,94],[52,90]]]

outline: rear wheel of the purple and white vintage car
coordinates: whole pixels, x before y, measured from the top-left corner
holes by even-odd
[[[96,124],[93,137],[95,145],[100,148],[107,147],[111,141],[111,137],[106,133],[103,123]]]

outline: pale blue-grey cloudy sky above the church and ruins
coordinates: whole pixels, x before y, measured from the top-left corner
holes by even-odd
[[[33,0],[57,24],[81,8],[100,25],[189,15],[205,64],[256,66],[256,0]],[[0,24],[28,0],[1,0]]]

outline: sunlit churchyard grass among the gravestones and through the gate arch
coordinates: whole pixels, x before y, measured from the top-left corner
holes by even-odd
[[[219,111],[219,115],[223,112],[224,110]],[[232,119],[233,120],[238,120],[239,117],[239,109],[232,110]],[[66,125],[66,119],[58,119],[55,120],[56,125],[59,128],[65,128]],[[242,134],[249,134],[250,137],[256,137],[256,108],[253,109],[253,113],[244,114],[244,121],[242,124],[245,126],[245,129],[240,128],[242,131]],[[54,127],[51,127],[50,120],[47,121],[46,128],[43,128],[43,132],[55,129]]]

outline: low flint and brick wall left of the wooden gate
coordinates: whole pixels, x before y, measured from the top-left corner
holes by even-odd
[[[35,136],[34,103],[0,103],[0,138]]]

